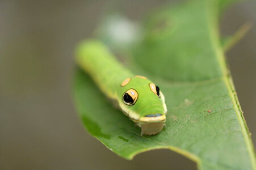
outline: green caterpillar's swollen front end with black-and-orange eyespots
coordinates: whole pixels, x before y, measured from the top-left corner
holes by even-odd
[[[167,112],[165,97],[160,87],[144,76],[125,79],[121,83],[119,96],[119,105],[122,111],[134,122],[137,122],[141,128],[142,126],[148,126],[145,124],[162,123],[161,125],[163,125],[163,122],[165,122]],[[152,127],[151,125],[150,127]],[[158,129],[162,130],[162,127]]]

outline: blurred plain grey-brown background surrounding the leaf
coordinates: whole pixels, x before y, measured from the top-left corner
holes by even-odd
[[[196,169],[169,150],[132,161],[91,137],[72,103],[75,44],[112,9],[141,19],[170,1],[0,1],[0,169]],[[221,35],[253,27],[226,54],[244,116],[256,142],[256,2],[233,5]]]

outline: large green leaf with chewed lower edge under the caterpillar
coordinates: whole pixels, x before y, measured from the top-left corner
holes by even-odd
[[[226,3],[223,3],[226,4]],[[74,97],[85,128],[126,159],[167,148],[199,169],[255,169],[254,148],[218,32],[218,1],[188,1],[161,10],[146,23],[145,37],[125,58],[166,97],[166,128],[140,136],[140,128],[115,109],[89,76],[77,69]]]

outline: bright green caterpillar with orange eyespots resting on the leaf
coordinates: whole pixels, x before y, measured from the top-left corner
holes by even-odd
[[[75,59],[100,90],[117,101],[121,111],[141,127],[141,135],[162,130],[167,113],[165,97],[152,81],[125,69],[97,40],[78,45]]]

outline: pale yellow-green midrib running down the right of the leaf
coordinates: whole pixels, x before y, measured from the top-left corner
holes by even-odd
[[[207,6],[214,6],[214,5],[216,5],[215,3],[217,3],[217,1],[207,1]],[[245,123],[245,118],[244,118],[240,103],[239,103],[237,95],[236,95],[236,90],[234,88],[232,77],[230,76],[230,72],[226,65],[223,48],[221,47],[221,44],[220,44],[220,33],[219,33],[219,28],[218,28],[218,25],[219,25],[218,18],[219,17],[216,17],[216,16],[219,16],[218,14],[219,14],[219,12],[217,10],[216,11],[207,10],[209,36],[211,37],[212,46],[213,46],[213,49],[215,49],[214,51],[216,53],[216,57],[219,61],[220,69],[223,74],[222,79],[224,80],[224,82],[226,84],[226,88],[228,89],[229,96],[232,100],[234,109],[237,113],[238,121],[240,122],[242,134],[244,135],[246,148],[250,155],[252,167],[254,169],[256,169],[253,143],[252,143],[251,139],[249,138],[249,130]]]

